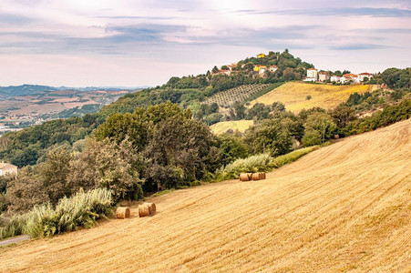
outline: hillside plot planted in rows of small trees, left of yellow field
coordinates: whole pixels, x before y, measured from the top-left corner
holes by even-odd
[[[221,107],[229,107],[238,101],[243,101],[247,97],[261,91],[265,87],[270,85],[244,85],[235,88],[228,89],[226,91],[221,91],[210,98],[206,99],[204,103],[212,104],[217,103]]]

